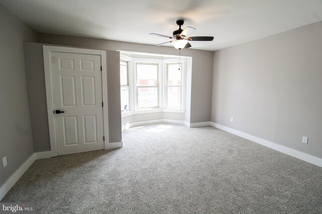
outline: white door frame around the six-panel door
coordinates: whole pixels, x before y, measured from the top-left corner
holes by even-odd
[[[106,51],[81,49],[81,48],[67,48],[67,47],[58,47],[58,46],[43,46],[51,157],[57,156],[58,153],[57,153],[57,141],[56,141],[55,115],[53,114],[54,102],[53,102],[53,94],[52,94],[53,90],[52,90],[51,69],[50,69],[50,59],[49,59],[50,52],[90,54],[90,55],[101,56],[102,90],[103,90],[103,103],[104,103],[104,106],[103,106],[103,122],[104,122],[104,136],[105,136],[104,148],[109,149]]]

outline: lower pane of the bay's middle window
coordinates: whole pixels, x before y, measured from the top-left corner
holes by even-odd
[[[139,108],[150,108],[157,106],[157,87],[138,87],[137,105]]]

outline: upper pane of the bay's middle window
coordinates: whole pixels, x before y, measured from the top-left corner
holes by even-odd
[[[136,65],[137,85],[157,85],[157,65]]]

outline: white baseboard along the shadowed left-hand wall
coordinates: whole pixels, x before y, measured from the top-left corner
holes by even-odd
[[[7,192],[15,185],[19,178],[27,171],[27,169],[35,162],[35,154],[32,154],[11,177],[0,188],[0,200],[2,200]]]

